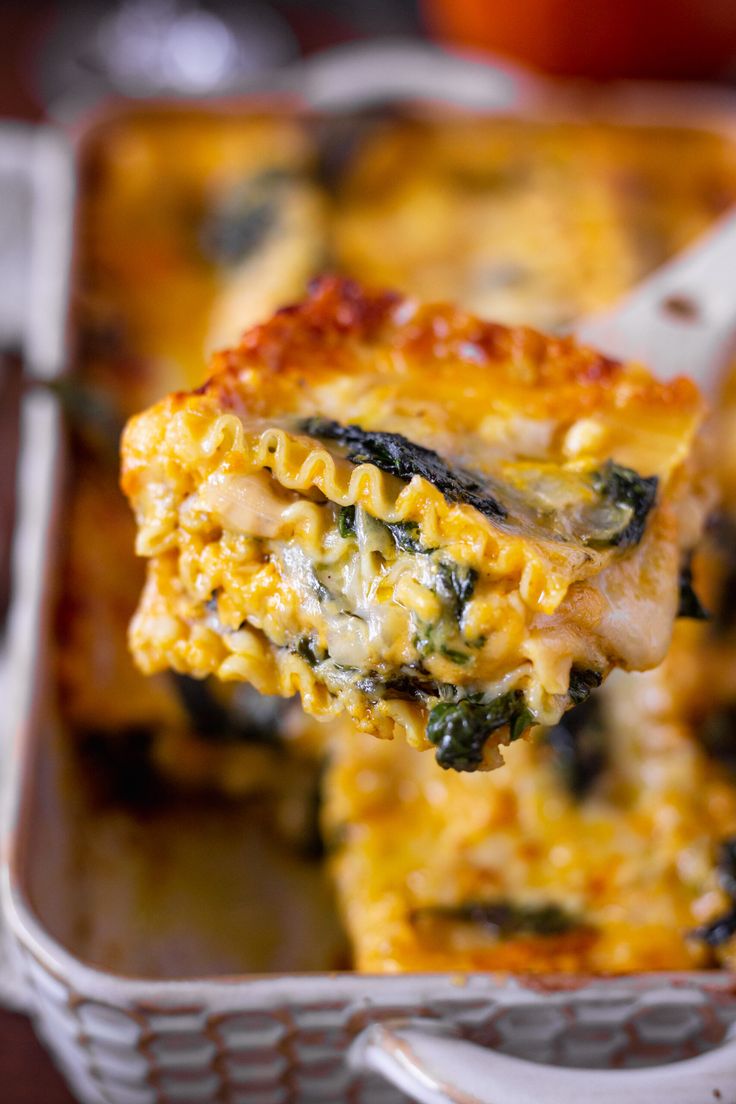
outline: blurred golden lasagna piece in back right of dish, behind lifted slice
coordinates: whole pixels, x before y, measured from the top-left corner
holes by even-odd
[[[395,118],[349,162],[333,257],[374,286],[555,329],[616,302],[735,189],[736,150],[715,132]]]

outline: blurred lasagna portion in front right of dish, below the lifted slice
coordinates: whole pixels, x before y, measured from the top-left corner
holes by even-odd
[[[733,965],[733,774],[653,673],[615,672],[490,774],[335,741],[323,824],[356,968]]]

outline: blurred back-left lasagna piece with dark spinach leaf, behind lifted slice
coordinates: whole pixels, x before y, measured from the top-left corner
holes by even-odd
[[[140,410],[201,383],[205,347],[298,298],[324,255],[314,162],[287,116],[148,107],[109,121],[84,164],[85,382]]]

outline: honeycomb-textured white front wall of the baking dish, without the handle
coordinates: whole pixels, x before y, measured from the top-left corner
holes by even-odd
[[[17,951],[38,1026],[84,1104],[394,1104],[404,1097],[344,1063],[377,1021],[438,1018],[504,1053],[606,1068],[700,1053],[736,1020],[730,986],[703,975],[559,991],[480,976],[297,977],[288,995],[284,981],[198,981],[157,997],[150,984],[85,979]]]

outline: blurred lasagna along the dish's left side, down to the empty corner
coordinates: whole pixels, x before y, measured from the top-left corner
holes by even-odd
[[[207,343],[301,294],[323,254],[314,162],[286,116],[149,106],[106,121],[85,149],[75,373],[57,385],[74,434],[56,670],[86,773],[134,805],[179,790],[270,803],[297,849],[328,729],[247,686],[136,669],[126,629],[143,567],[117,454],[128,414],[202,381]],[[313,839],[310,827],[307,849]]]

